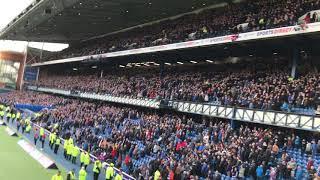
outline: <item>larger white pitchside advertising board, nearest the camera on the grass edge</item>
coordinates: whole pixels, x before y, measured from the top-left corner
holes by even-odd
[[[56,168],[55,163],[45,156],[42,152],[38,151],[34,146],[28,143],[25,140],[18,141],[19,146],[22,147],[24,151],[26,151],[33,159],[38,161],[44,168]]]

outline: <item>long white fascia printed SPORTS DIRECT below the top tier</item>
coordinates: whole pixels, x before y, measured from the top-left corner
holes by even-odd
[[[35,63],[35,64],[32,64],[31,66],[42,66],[42,65],[59,64],[59,63],[67,63],[67,62],[76,62],[76,61],[83,61],[90,58],[93,58],[93,59],[108,58],[108,57],[127,56],[127,55],[133,55],[133,54],[178,50],[178,49],[185,49],[185,48],[192,48],[192,47],[224,44],[224,43],[230,43],[230,42],[241,42],[241,41],[248,41],[248,40],[265,39],[265,38],[284,37],[284,36],[305,34],[305,33],[318,32],[318,31],[320,31],[319,22],[308,24],[307,27],[305,28],[302,28],[300,25],[288,26],[288,27],[268,29],[268,30],[262,30],[262,31],[254,31],[254,32],[221,36],[221,37],[200,39],[195,41],[187,41],[182,43],[174,43],[174,44],[161,45],[161,46],[117,51],[117,52],[111,52],[111,53],[105,53],[105,54],[96,54],[92,56],[82,56],[82,57],[47,61],[43,63]]]

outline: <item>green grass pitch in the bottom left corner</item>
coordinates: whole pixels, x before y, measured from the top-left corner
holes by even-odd
[[[17,144],[20,138],[10,137],[0,126],[0,180],[51,180],[57,170],[47,170],[29,156]]]

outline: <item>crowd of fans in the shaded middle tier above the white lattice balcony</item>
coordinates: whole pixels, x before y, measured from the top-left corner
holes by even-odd
[[[316,109],[320,75],[306,70],[289,75],[287,61],[172,67],[163,76],[156,68],[96,74],[41,76],[39,86],[115,96],[181,100],[263,110]]]

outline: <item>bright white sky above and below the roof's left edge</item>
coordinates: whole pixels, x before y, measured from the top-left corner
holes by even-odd
[[[18,16],[26,7],[35,0],[0,0],[0,30],[6,27],[16,16]],[[25,41],[6,41],[0,40],[0,50],[10,50],[24,52],[28,42]],[[30,47],[48,50],[60,51],[67,48],[67,44],[29,42]]]

